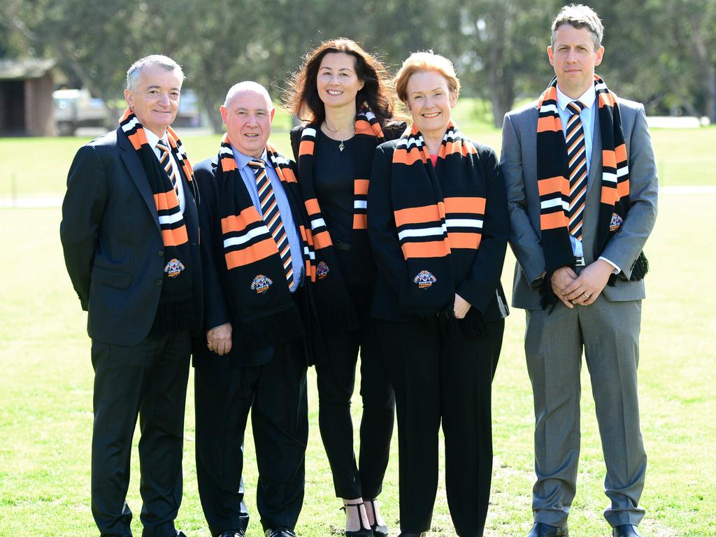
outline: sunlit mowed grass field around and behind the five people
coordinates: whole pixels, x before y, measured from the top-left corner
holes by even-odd
[[[716,130],[654,130],[657,163],[666,185],[716,184]],[[663,137],[662,137],[663,135]],[[473,134],[499,144],[499,133]],[[287,149],[286,133],[276,143]],[[0,181],[24,179],[21,193],[62,195],[67,167],[84,140],[0,140]],[[690,149],[690,144],[695,144]],[[218,137],[186,140],[190,156],[208,156]],[[198,157],[193,157],[199,160]],[[680,159],[680,160],[679,160]],[[692,168],[685,163],[701,163]],[[674,166],[673,176],[669,167]],[[10,167],[10,168],[9,168]],[[680,170],[680,171],[679,171]],[[692,170],[691,172],[689,170]],[[681,174],[683,175],[677,175]],[[26,187],[26,190],[25,190]],[[0,198],[9,195],[5,183]],[[7,194],[6,194],[7,192]],[[642,432],[649,455],[642,505],[644,537],[716,536],[716,300],[710,269],[716,264],[714,194],[664,193],[647,244],[651,272],[643,304],[639,367]],[[86,314],[79,309],[64,270],[59,208],[0,210],[0,537],[96,535],[89,509],[89,445],[92,433],[92,367]],[[695,233],[697,230],[697,233]],[[511,289],[513,258],[503,282]],[[493,384],[495,465],[487,536],[522,537],[531,527],[533,483],[531,388],[523,358],[523,311],[513,310]],[[121,329],[121,327],[118,327]],[[582,378],[582,449],[571,534],[609,534],[601,512],[606,497],[604,460],[594,418],[589,374]],[[317,426],[314,372],[309,373],[311,437],[306,453],[306,500],[299,536],[342,534],[344,515]],[[193,378],[193,377],[192,377]],[[184,498],[178,528],[209,536],[195,478],[193,380],[186,408]],[[354,396],[356,425],[360,399]],[[128,501],[140,535],[139,466],[132,453]],[[246,485],[253,516],[248,535],[261,536],[256,513],[253,440],[246,438]],[[383,511],[398,532],[397,435],[381,495]],[[431,536],[454,535],[442,475]]]

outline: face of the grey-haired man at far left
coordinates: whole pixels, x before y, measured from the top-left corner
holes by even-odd
[[[181,82],[178,71],[149,64],[140,72],[136,89],[125,89],[127,106],[145,129],[159,137],[177,117]]]

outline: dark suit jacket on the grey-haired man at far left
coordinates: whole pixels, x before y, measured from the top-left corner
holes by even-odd
[[[193,297],[200,318],[198,213],[185,178],[182,183]],[[87,311],[89,337],[127,347],[140,343],[154,324],[168,260],[152,190],[121,128],[74,155],[59,234],[69,279]]]

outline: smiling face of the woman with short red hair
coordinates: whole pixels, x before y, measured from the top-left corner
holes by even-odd
[[[405,89],[405,104],[415,126],[423,136],[442,138],[457,100],[448,80],[436,71],[417,71],[410,75]]]

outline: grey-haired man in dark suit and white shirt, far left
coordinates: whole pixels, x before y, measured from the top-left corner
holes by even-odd
[[[174,520],[190,332],[202,309],[197,190],[169,127],[183,78],[164,56],[130,67],[120,128],[77,152],[62,204],[64,259],[92,338],[92,514],[102,536],[131,536],[137,415],[142,536],[183,535]]]

